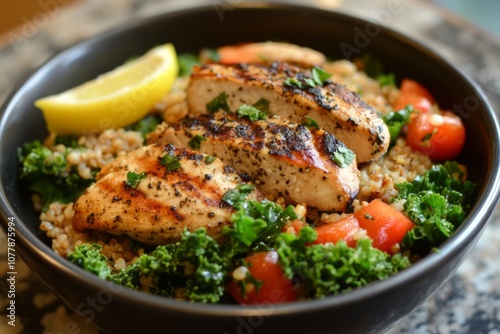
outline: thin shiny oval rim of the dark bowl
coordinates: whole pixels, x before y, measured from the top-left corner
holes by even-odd
[[[313,5],[298,5],[298,4],[290,4],[290,3],[255,3],[255,2],[238,2],[234,4],[234,8],[238,9],[257,9],[257,10],[266,10],[266,9],[286,9],[286,10],[307,10],[314,11],[316,14],[321,15],[329,15],[342,17],[344,20],[349,20],[351,22],[357,24],[366,24],[367,20],[352,16],[350,14],[346,14],[344,12],[339,12],[331,9],[326,9],[321,6],[313,6]],[[184,14],[193,14],[196,12],[202,12],[211,10],[213,11],[213,6],[210,5],[199,5],[196,7],[186,7],[173,9],[166,12],[162,12],[153,16],[148,16],[142,19],[139,19],[133,23],[124,23],[115,28],[108,29],[104,32],[101,32],[95,36],[92,36],[83,41],[79,41],[77,43],[72,44],[64,48],[63,50],[57,52],[52,55],[49,59],[47,59],[42,65],[35,68],[28,74],[21,82],[11,91],[7,99],[5,100],[0,114],[2,115],[2,119],[0,122],[0,133],[3,133],[5,129],[6,119],[12,112],[12,106],[16,104],[16,101],[23,95],[23,92],[27,89],[26,85],[29,83],[31,79],[33,79],[37,74],[39,75],[44,71],[44,69],[52,63],[57,62],[59,59],[64,58],[71,52],[75,52],[76,49],[82,49],[87,46],[90,46],[93,43],[98,43],[100,40],[109,39],[116,35],[125,34],[131,30],[137,29],[138,27],[153,23],[157,20],[165,20],[168,19],[169,16],[172,15],[184,15]],[[392,28],[389,28],[385,25],[380,25],[381,34],[388,35],[393,39],[398,39],[402,43],[410,45],[412,48],[417,49],[419,52],[425,54],[427,57],[432,58],[434,61],[439,63],[441,67],[447,67],[459,75],[464,82],[466,82],[471,88],[473,88],[476,97],[480,100],[482,105],[485,107],[485,113],[482,115],[486,117],[488,121],[491,123],[490,127],[493,129],[493,132],[490,134],[490,142],[492,147],[492,161],[498,161],[500,156],[499,151],[499,125],[497,116],[493,111],[493,108],[488,101],[485,93],[479,87],[479,84],[474,82],[467,74],[465,74],[461,69],[459,69],[456,65],[446,61],[441,55],[437,52],[433,51],[428,46],[424,45],[424,43],[420,41],[416,41],[415,39],[399,33]],[[461,225],[461,227],[454,233],[454,235],[444,242],[440,248],[439,253],[433,253],[427,255],[423,260],[413,264],[408,269],[398,273],[395,276],[392,276],[388,279],[377,281],[368,284],[367,286],[352,290],[347,293],[342,293],[339,295],[329,296],[323,299],[312,299],[312,300],[304,300],[297,301],[293,303],[285,303],[275,305],[273,304],[272,308],[262,307],[262,306],[238,306],[235,307],[233,304],[199,304],[199,303],[190,303],[185,301],[178,301],[171,298],[160,297],[151,295],[144,292],[135,291],[132,289],[128,289],[125,287],[121,287],[109,281],[103,280],[91,273],[86,272],[80,267],[70,263],[66,259],[62,258],[58,254],[56,254],[52,248],[46,245],[42,240],[36,237],[30,229],[22,223],[19,219],[16,210],[11,206],[7,191],[4,188],[4,185],[1,184],[0,187],[0,208],[1,208],[1,218],[4,229],[7,229],[7,220],[8,217],[14,217],[16,223],[20,225],[16,225],[16,238],[18,243],[22,244],[26,250],[32,252],[39,258],[44,258],[45,261],[54,266],[57,270],[63,271],[66,276],[71,277],[75,281],[82,281],[83,284],[90,284],[93,289],[96,291],[100,289],[106,289],[109,285],[113,285],[114,288],[112,290],[119,290],[121,298],[127,298],[129,300],[133,300],[137,303],[147,303],[149,305],[153,305],[161,308],[164,311],[172,311],[172,312],[180,312],[180,313],[190,313],[196,314],[199,316],[218,316],[218,317],[234,317],[234,316],[269,316],[269,315],[289,315],[293,313],[306,313],[306,312],[314,312],[316,310],[322,308],[330,308],[332,306],[345,305],[350,303],[356,303],[361,299],[365,299],[367,297],[373,297],[376,295],[383,294],[385,291],[389,291],[394,289],[396,286],[403,284],[406,281],[410,281],[415,277],[419,277],[424,275],[427,272],[432,271],[433,268],[439,267],[442,263],[448,261],[453,254],[459,249],[463,248],[464,245],[472,242],[475,238],[475,235],[481,234],[487,224],[487,217],[489,217],[494,208],[495,204],[498,202],[500,196],[500,178],[498,177],[499,166],[493,165],[490,166],[490,170],[485,177],[485,185],[483,186],[482,191],[478,195],[478,200],[476,201],[473,208],[470,210],[467,215],[465,221]],[[2,170],[0,166],[0,170]],[[491,181],[491,182],[488,182]],[[475,234],[476,232],[476,234]],[[36,274],[36,273],[35,273]],[[454,273],[450,274],[450,277]],[[54,291],[57,294],[57,291]]]

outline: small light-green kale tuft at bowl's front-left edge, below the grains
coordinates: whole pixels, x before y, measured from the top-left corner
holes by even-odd
[[[81,244],[68,254],[67,259],[101,278],[107,278],[111,272],[108,259],[101,254],[102,246],[98,244]]]

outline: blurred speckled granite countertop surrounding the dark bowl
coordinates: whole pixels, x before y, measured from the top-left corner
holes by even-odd
[[[217,5],[229,6],[226,8],[231,10],[233,2],[240,1],[209,0],[214,10]],[[388,0],[315,2],[391,26],[435,49],[479,82],[495,110],[500,111],[500,42],[495,37],[425,1],[401,0],[401,11],[392,16],[383,14],[391,3]],[[64,1],[50,3],[55,5],[40,6],[39,13],[27,18],[28,25],[0,36],[0,103],[23,76],[58,50],[137,18],[203,2],[84,0],[64,8],[58,5]],[[17,310],[17,325],[8,326],[4,298],[7,291],[6,248],[5,237],[0,233],[0,333],[67,333],[64,324],[70,321],[77,326],[72,327],[72,333],[97,333],[61,305],[22,263],[17,263],[17,291],[21,305]],[[422,307],[387,333],[500,334],[499,250],[500,206],[497,206],[483,236],[457,274]]]

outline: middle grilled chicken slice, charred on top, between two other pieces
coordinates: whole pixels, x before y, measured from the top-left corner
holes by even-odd
[[[280,118],[250,121],[230,114],[202,115],[169,126],[160,125],[149,143],[193,146],[215,155],[248,175],[268,198],[306,204],[324,211],[346,211],[359,190],[355,159],[339,167],[332,156],[346,149],[323,130]]]

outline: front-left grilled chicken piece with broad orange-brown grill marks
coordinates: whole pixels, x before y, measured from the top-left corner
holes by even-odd
[[[208,235],[220,237],[234,213],[222,196],[242,183],[220,160],[206,161],[200,153],[172,145],[130,152],[104,167],[98,178],[74,205],[75,230],[127,234],[151,245],[179,240],[184,228],[204,227]],[[254,190],[248,199],[263,197]]]

